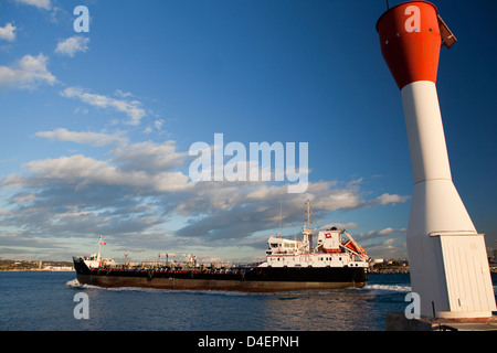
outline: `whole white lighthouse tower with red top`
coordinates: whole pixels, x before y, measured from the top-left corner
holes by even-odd
[[[414,188],[406,244],[421,317],[489,318],[496,301],[485,239],[452,180],[436,90],[441,46],[455,38],[427,1],[388,9],[377,31],[408,130]]]

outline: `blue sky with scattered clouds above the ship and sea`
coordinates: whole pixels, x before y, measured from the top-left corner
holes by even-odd
[[[442,47],[437,77],[453,180],[490,249],[497,4],[434,3],[458,40]],[[413,181],[376,31],[385,10],[383,0],[0,0],[0,257],[71,260],[96,253],[103,234],[103,256],[117,259],[261,260],[271,235],[300,235],[309,200],[315,232],[346,228],[373,258],[405,258]],[[281,143],[308,171],[307,189],[191,178],[194,143],[214,156],[230,142],[246,148],[242,161],[251,143]],[[221,168],[234,161],[224,154]]]

